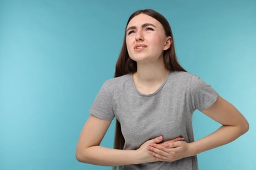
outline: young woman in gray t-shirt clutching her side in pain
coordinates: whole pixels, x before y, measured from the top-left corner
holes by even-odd
[[[249,129],[244,116],[179,65],[171,27],[154,10],[129,18],[116,78],[98,93],[77,144],[77,160],[123,169],[198,169],[196,155]],[[192,113],[223,126],[194,141]],[[100,146],[116,116],[115,148]]]

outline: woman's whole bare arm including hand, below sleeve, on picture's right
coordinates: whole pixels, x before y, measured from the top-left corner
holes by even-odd
[[[152,143],[148,147],[149,153],[155,156],[156,160],[175,161],[230,143],[249,129],[249,124],[244,116],[222,97],[218,97],[211,107],[202,112],[223,126],[193,143],[178,141],[165,143],[164,146]]]

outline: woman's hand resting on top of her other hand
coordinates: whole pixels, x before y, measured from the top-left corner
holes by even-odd
[[[176,161],[193,156],[191,144],[185,141],[165,142],[164,144],[151,143],[147,149],[148,153],[158,161]]]

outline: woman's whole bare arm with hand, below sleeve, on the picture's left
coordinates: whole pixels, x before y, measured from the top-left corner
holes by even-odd
[[[142,144],[138,150],[117,150],[99,146],[111,121],[101,120],[91,115],[79,137],[76,149],[78,161],[103,166],[129,165],[156,161],[148,154],[146,146],[150,143],[160,143],[156,138]]]

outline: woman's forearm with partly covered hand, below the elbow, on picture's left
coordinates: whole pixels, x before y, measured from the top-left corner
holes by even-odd
[[[150,143],[161,143],[163,137],[156,137],[143,143],[137,150],[117,150],[102,146],[83,148],[78,145],[76,158],[85,163],[102,166],[119,166],[157,161],[148,154],[147,146]],[[178,140],[178,139],[177,139]]]

